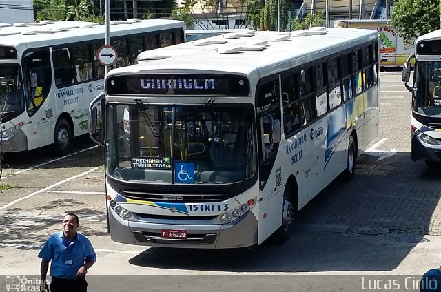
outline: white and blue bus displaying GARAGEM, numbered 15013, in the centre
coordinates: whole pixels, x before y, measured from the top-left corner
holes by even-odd
[[[340,174],[352,178],[378,134],[377,32],[230,36],[152,50],[106,76],[90,129],[106,145],[112,240],[283,242],[297,211]]]

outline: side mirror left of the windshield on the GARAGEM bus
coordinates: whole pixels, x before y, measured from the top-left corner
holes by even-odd
[[[101,92],[94,98],[89,106],[89,134],[90,138],[98,145],[104,146],[103,135],[103,121],[104,121],[104,105],[105,93]]]

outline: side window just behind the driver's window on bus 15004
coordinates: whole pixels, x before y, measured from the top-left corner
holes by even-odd
[[[54,58],[55,85],[58,88],[76,83],[76,68],[72,57],[72,48],[59,48],[52,52]]]

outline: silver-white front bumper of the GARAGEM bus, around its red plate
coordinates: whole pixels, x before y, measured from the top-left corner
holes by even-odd
[[[127,221],[112,208],[109,211],[110,237],[116,242],[152,247],[229,249],[257,244],[257,220],[252,212],[227,225],[171,225]],[[161,238],[162,229],[185,230],[186,239]]]

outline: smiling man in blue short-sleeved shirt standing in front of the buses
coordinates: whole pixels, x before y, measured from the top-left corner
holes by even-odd
[[[78,216],[68,213],[63,218],[63,231],[52,234],[39,253],[41,258],[40,291],[46,291],[46,274],[49,262],[50,291],[52,292],[85,292],[88,283],[85,274],[96,262],[96,253],[90,240],[77,233],[80,226]]]

